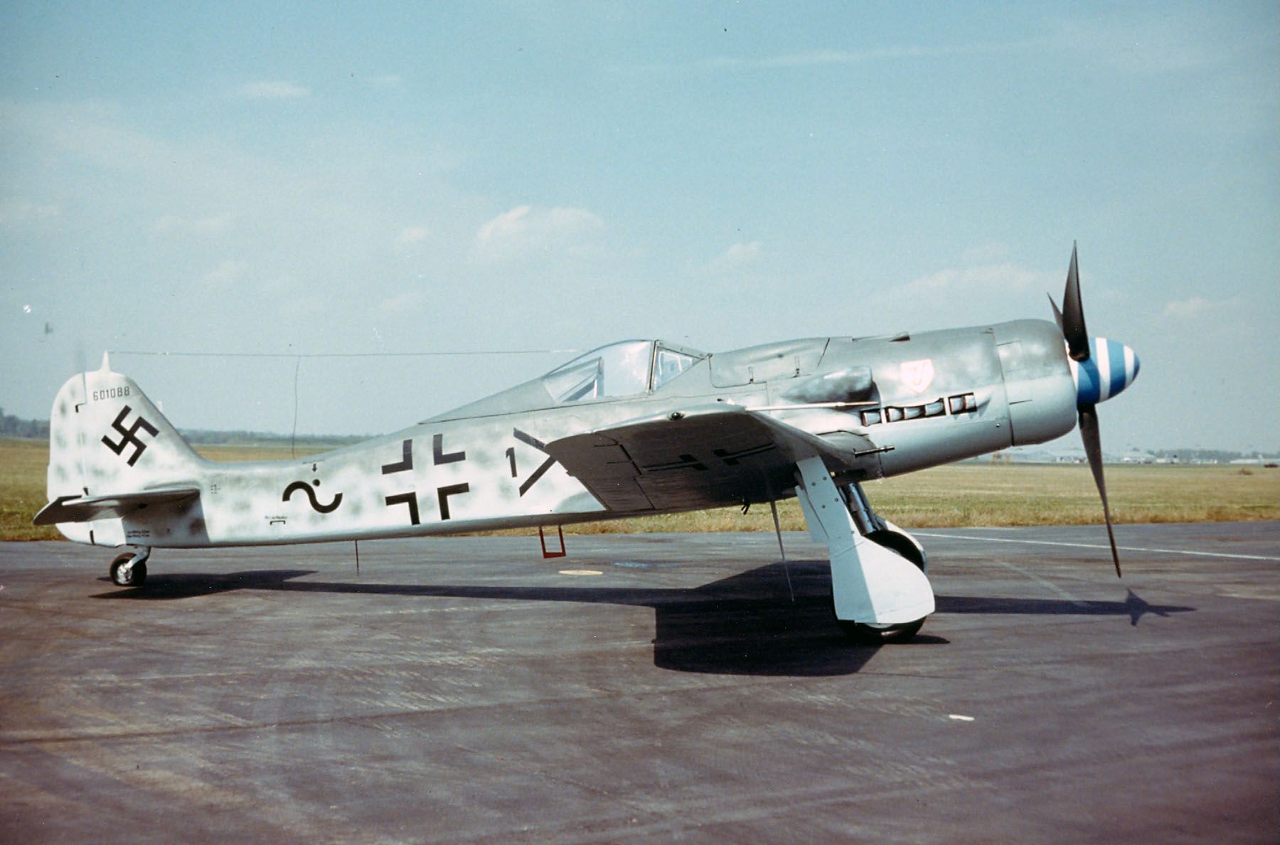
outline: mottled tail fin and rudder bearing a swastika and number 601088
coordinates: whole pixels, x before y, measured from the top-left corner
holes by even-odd
[[[49,421],[50,502],[193,487],[201,458],[128,376],[108,357],[93,373],[72,376],[54,399]],[[104,525],[106,522],[114,524]],[[58,524],[69,539],[111,543],[119,519]],[[118,540],[118,542],[123,542]]]

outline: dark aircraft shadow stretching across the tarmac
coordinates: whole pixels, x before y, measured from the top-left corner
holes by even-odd
[[[831,612],[831,576],[826,561],[792,561],[749,570],[690,589],[591,586],[416,585],[361,581],[310,581],[315,570],[256,570],[229,574],[152,575],[128,590],[96,598],[166,600],[234,590],[411,595],[480,600],[572,602],[650,607],[655,617],[654,664],[682,672],[764,676],[831,676],[859,671],[874,647],[850,643]],[[1153,606],[1129,590],[1123,602],[1043,598],[938,595],[938,613],[1128,616],[1132,625],[1147,615],[1169,616],[1192,607]],[[893,648],[945,645],[925,629]]]

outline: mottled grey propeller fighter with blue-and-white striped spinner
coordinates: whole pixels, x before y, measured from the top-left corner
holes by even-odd
[[[623,341],[403,431],[260,463],[198,457],[104,356],[54,401],[50,503],[35,521],[127,547],[110,574],[129,586],[154,548],[541,530],[795,495],[831,551],[841,627],[906,639],[933,612],[924,549],[872,510],[861,481],[1042,443],[1079,420],[1111,530],[1094,406],[1138,360],[1088,337],[1074,248],[1053,312],[1057,325],[716,355]]]

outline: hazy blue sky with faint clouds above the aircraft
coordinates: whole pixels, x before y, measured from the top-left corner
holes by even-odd
[[[1106,447],[1280,449],[1274,3],[10,3],[0,49],[9,414],[102,350],[1048,319],[1079,241],[1091,332],[1143,361]],[[298,428],[568,356],[306,358]],[[292,426],[292,358],[113,364],[179,426]]]

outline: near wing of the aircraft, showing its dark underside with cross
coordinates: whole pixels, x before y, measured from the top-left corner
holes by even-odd
[[[630,420],[552,440],[547,452],[611,511],[696,510],[781,498],[795,463],[851,466],[876,452],[864,437],[838,443],[759,411],[714,405]]]

